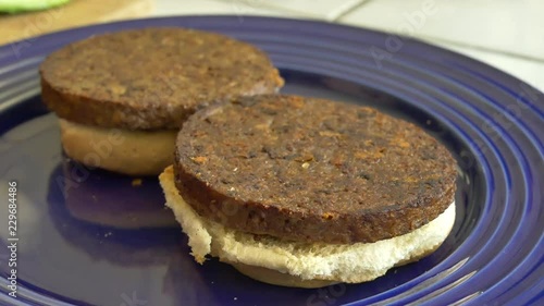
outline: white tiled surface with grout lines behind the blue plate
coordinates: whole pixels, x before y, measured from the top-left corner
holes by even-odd
[[[157,0],[154,15],[318,19],[407,34],[475,58],[544,91],[542,0]]]

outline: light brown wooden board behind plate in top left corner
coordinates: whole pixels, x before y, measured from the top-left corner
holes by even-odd
[[[94,23],[148,16],[153,0],[72,0],[57,9],[0,16],[0,45]]]

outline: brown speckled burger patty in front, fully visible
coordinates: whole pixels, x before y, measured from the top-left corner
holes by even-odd
[[[285,240],[356,243],[406,234],[454,200],[448,150],[374,109],[296,96],[198,111],[176,143],[176,186],[202,217]]]

